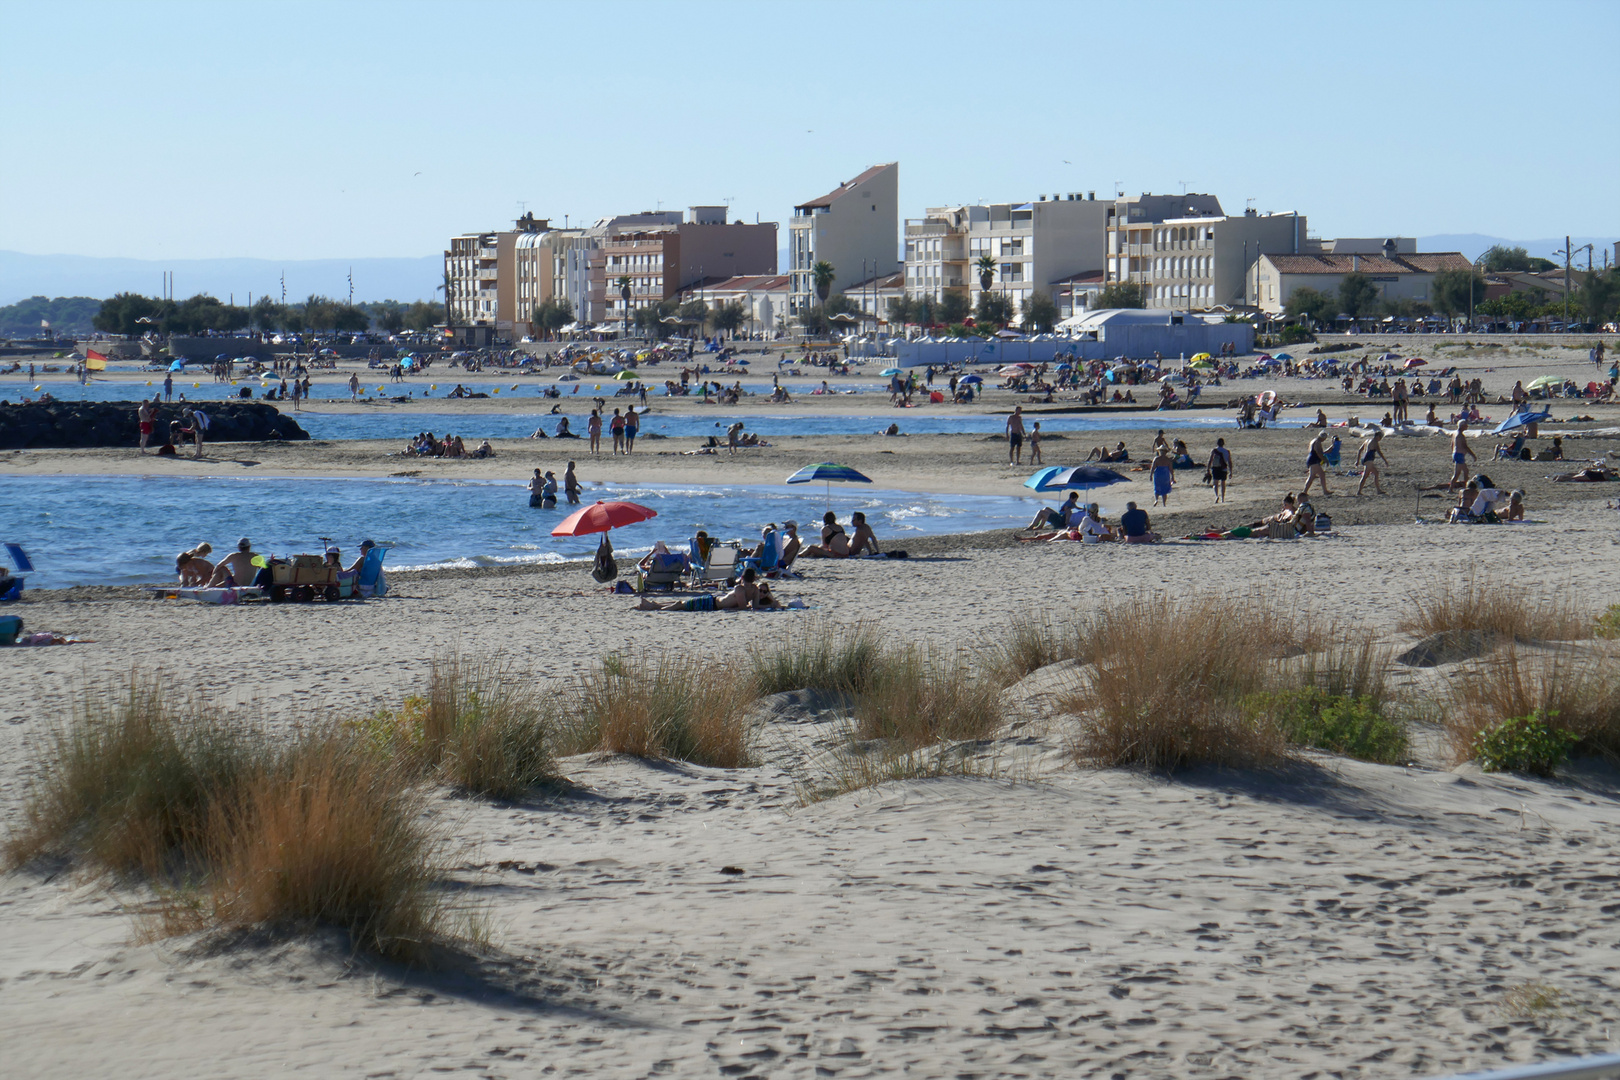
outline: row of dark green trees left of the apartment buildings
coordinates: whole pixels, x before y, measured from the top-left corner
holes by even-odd
[[[309,296],[303,303],[282,304],[269,296],[254,301],[251,308],[227,304],[217,296],[198,293],[188,300],[118,293],[100,301],[100,309],[91,324],[102,334],[138,337],[157,334],[202,334],[207,330],[232,334],[254,327],[258,330],[292,334],[369,330],[373,324],[395,334],[399,330],[431,330],[444,316],[444,308],[418,300],[402,304],[384,300],[373,304],[350,304],[330,296]]]

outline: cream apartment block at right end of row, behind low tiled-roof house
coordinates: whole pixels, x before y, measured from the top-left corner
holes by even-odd
[[[1312,249],[1302,214],[1228,217],[1212,194],[1116,199],[1108,223],[1108,282],[1137,282],[1149,308],[1254,306],[1262,254]]]

